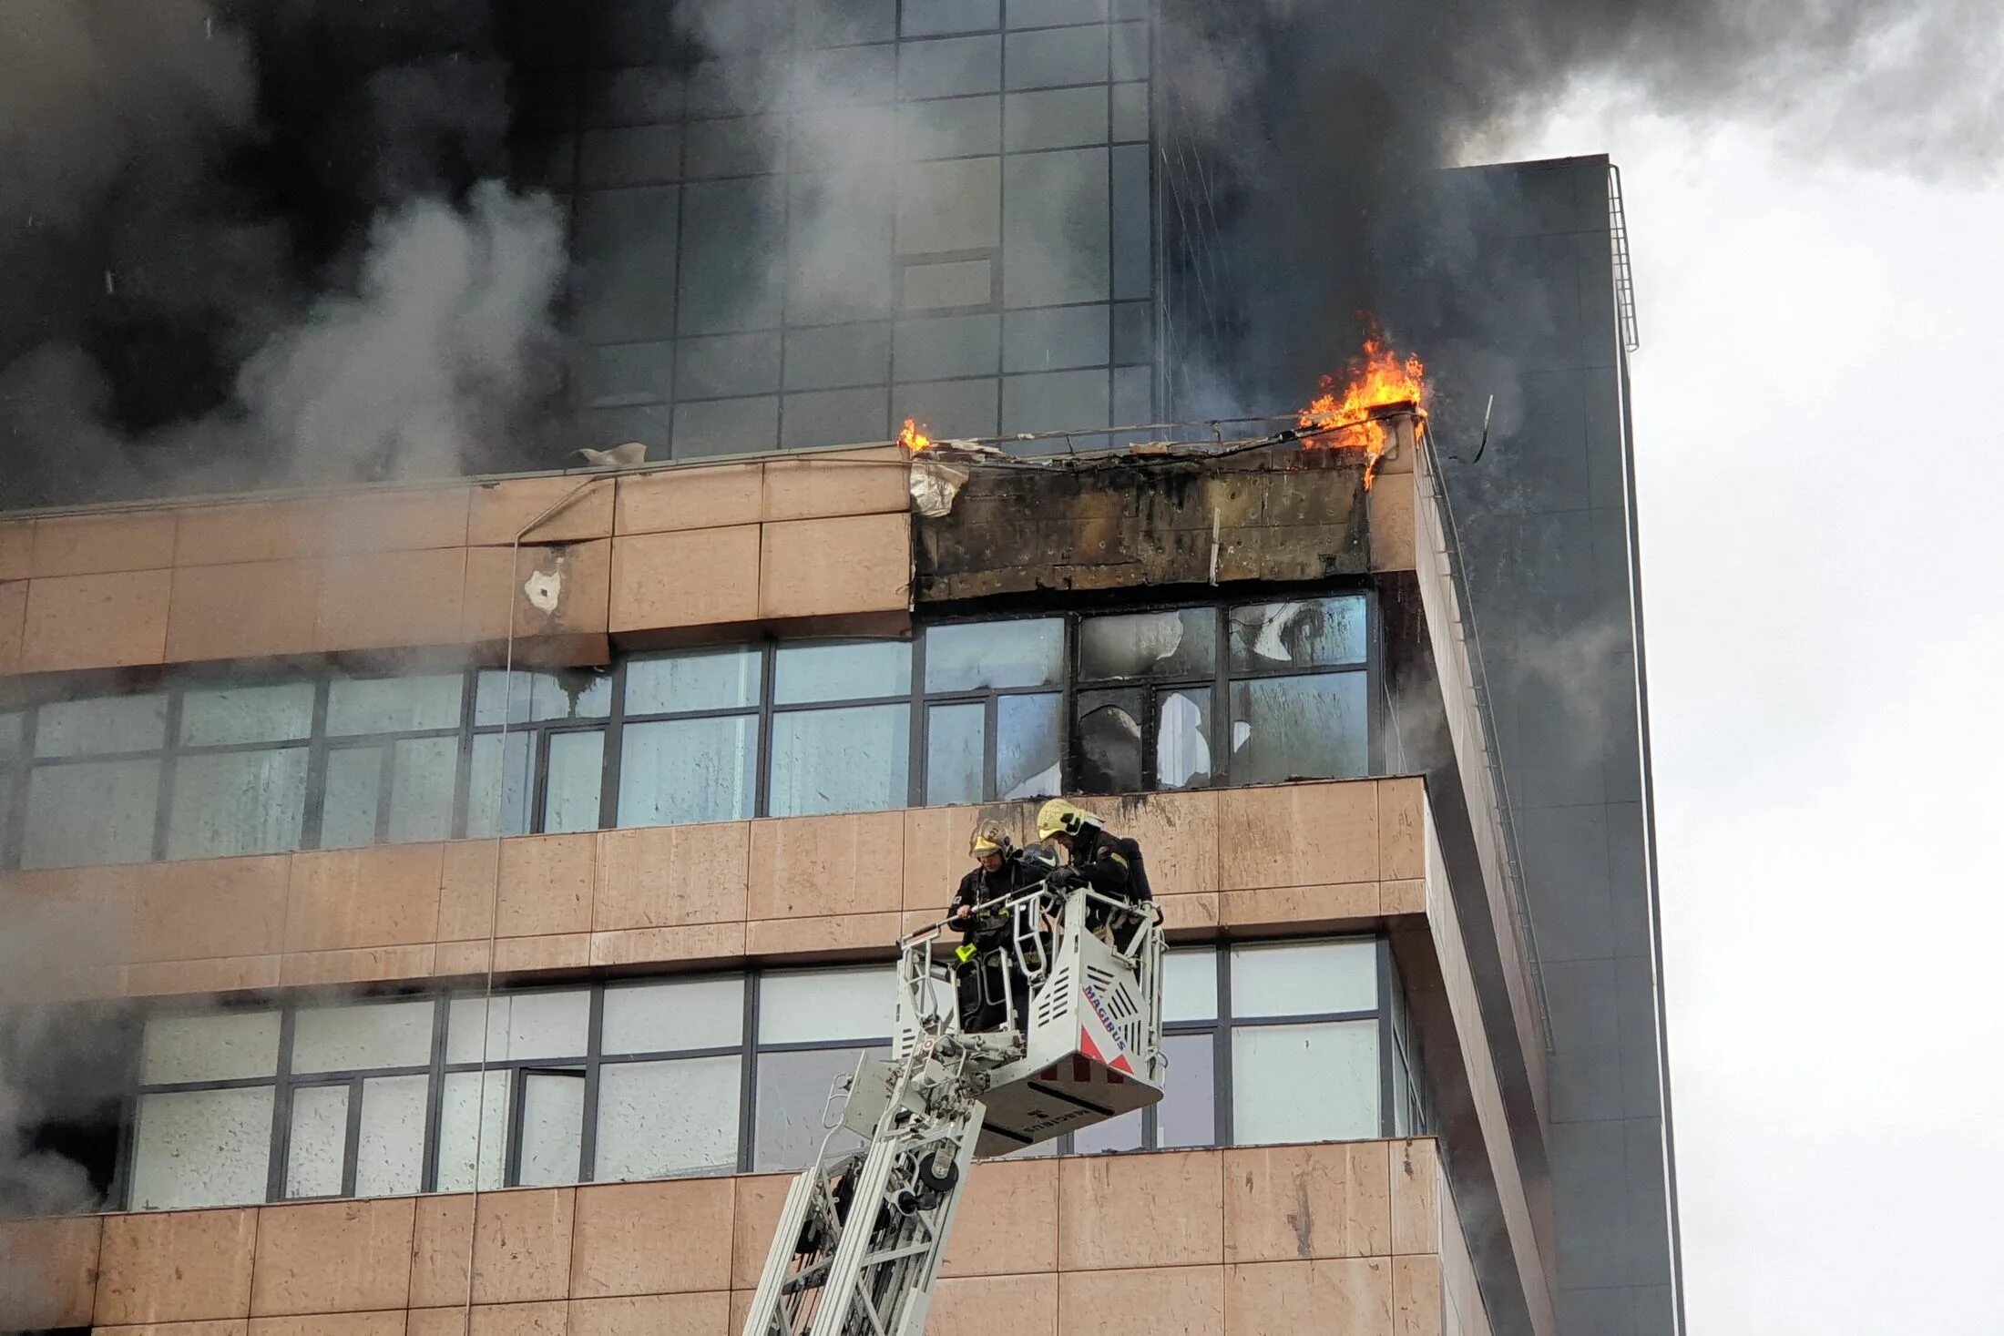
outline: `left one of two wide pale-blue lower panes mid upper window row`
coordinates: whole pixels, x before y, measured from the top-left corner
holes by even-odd
[[[629,723],[619,751],[619,825],[743,821],[758,783],[758,717]]]

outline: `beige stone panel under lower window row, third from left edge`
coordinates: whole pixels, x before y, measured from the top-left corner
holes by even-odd
[[[250,1316],[403,1308],[415,1206],[387,1198],[263,1208]]]

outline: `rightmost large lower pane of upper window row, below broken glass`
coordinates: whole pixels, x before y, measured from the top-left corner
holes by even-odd
[[[1365,673],[1232,683],[1232,783],[1353,779],[1369,769]]]

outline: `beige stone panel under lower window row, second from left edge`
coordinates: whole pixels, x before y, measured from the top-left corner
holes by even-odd
[[[96,1326],[250,1316],[257,1208],[108,1216]]]

